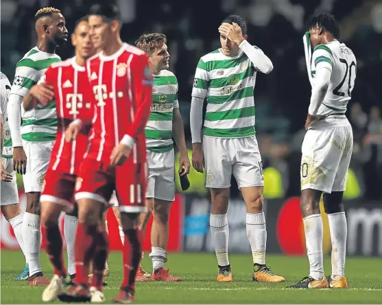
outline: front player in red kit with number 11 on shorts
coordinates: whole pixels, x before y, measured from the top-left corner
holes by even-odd
[[[89,254],[97,246],[100,215],[115,190],[126,236],[124,279],[115,302],[126,303],[134,300],[134,279],[141,260],[142,236],[136,228],[140,213],[146,210],[144,130],[152,103],[152,77],[145,52],[121,41],[119,10],[115,5],[93,5],[88,22],[95,48],[102,48],[102,52],[86,63],[97,114],[75,193],[77,285],[59,298],[78,302],[89,295],[86,284]],[[80,125],[73,124],[69,132],[75,133],[79,128]],[[104,266],[99,268],[103,271]]]

